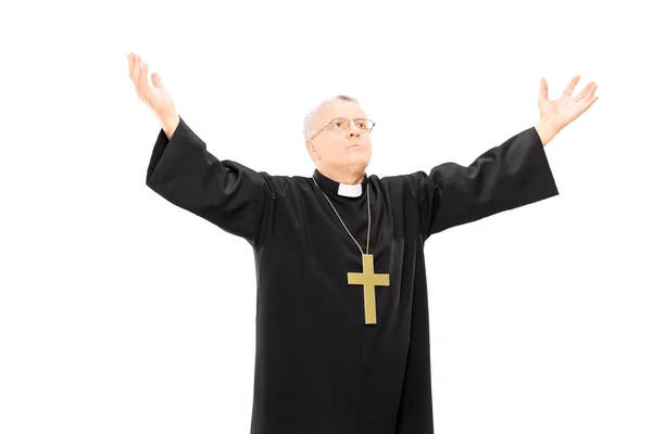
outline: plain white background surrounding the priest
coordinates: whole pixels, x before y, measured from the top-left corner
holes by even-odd
[[[158,72],[222,159],[312,174],[303,117],[360,100],[378,176],[598,102],[546,152],[560,195],[426,243],[435,430],[652,432],[649,15],[618,1],[14,2],[2,13],[0,432],[248,433],[250,245],[145,184]],[[642,7],[640,7],[642,8]],[[415,433],[418,434],[418,433]]]

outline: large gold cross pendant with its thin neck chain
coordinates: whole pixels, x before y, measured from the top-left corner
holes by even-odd
[[[372,233],[372,204],[371,204],[371,200],[369,200],[369,182],[367,181],[367,189],[366,189],[367,190],[366,202],[367,202],[367,209],[368,209],[368,228],[367,228],[367,253],[365,254],[362,251],[362,247],[360,246],[358,241],[355,241],[355,239],[349,231],[349,228],[347,228],[347,225],[344,225],[344,221],[340,217],[337,209],[335,209],[335,206],[333,205],[333,202],[330,202],[330,199],[328,199],[326,193],[324,193],[324,190],[322,190],[319,188],[319,184],[315,180],[314,176],[312,177],[312,179],[313,179],[315,186],[317,186],[317,189],[319,189],[322,191],[322,194],[324,194],[324,197],[326,197],[326,201],[328,201],[328,203],[330,204],[330,207],[335,212],[335,215],[337,216],[337,218],[339,218],[340,222],[342,224],[342,226],[349,233],[349,237],[351,237],[351,240],[353,240],[353,242],[358,245],[358,248],[360,248],[360,253],[362,253],[362,272],[348,272],[347,275],[349,278],[349,284],[363,285],[363,288],[364,288],[364,293],[363,293],[364,294],[364,322],[365,322],[365,324],[375,324],[376,323],[376,286],[389,286],[389,275],[374,273],[374,255],[369,255],[369,237]]]

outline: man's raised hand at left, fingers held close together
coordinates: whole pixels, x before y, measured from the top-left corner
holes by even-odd
[[[152,74],[152,85],[149,84],[147,73],[147,63],[140,66],[140,56],[136,53],[127,54],[129,60],[129,77],[134,81],[136,93],[154,112],[154,115],[161,122],[161,127],[167,136],[172,138],[174,130],[179,125],[179,115],[172,102],[172,97],[163,87],[161,76]]]

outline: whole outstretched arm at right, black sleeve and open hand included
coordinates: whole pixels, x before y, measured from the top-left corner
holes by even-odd
[[[598,101],[593,81],[572,95],[579,77],[574,76],[556,100],[548,98],[548,82],[541,78],[539,122],[469,166],[444,163],[429,175],[418,171],[405,177],[418,203],[424,240],[447,228],[559,194],[543,146]]]

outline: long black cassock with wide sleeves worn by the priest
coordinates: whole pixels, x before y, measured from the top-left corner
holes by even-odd
[[[272,176],[218,159],[181,118],[160,131],[147,186],[253,247],[258,282],[252,434],[434,433],[424,242],[447,228],[559,194],[534,127],[467,167],[364,177],[361,194],[313,176]],[[366,324],[360,248],[374,271]],[[231,291],[220,288],[216,291]],[[241,289],[239,289],[240,291]]]

